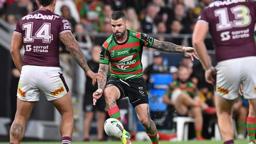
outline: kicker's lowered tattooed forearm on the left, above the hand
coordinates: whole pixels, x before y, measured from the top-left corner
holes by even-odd
[[[98,74],[100,75],[101,79],[98,79],[98,89],[103,90],[106,85],[108,68],[109,68],[109,65],[100,63],[100,68],[98,70]]]

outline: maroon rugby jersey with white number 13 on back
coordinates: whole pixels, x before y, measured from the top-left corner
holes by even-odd
[[[217,61],[256,56],[256,2],[217,0],[202,11],[198,22],[209,25]]]

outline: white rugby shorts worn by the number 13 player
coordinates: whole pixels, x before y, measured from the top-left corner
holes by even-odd
[[[256,98],[256,56],[221,61],[216,70],[216,92],[219,96],[227,100],[236,99],[242,83],[243,97]]]

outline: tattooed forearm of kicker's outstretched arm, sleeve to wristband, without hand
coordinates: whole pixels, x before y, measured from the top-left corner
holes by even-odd
[[[178,52],[182,53],[183,46],[173,44],[171,42],[158,41],[154,39],[154,43],[151,48],[158,49],[164,52]]]

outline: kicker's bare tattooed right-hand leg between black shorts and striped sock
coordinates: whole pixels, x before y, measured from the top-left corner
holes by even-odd
[[[141,124],[145,127],[148,134],[156,133],[156,124],[150,119],[149,106],[147,103],[137,105],[135,108],[137,116]]]

